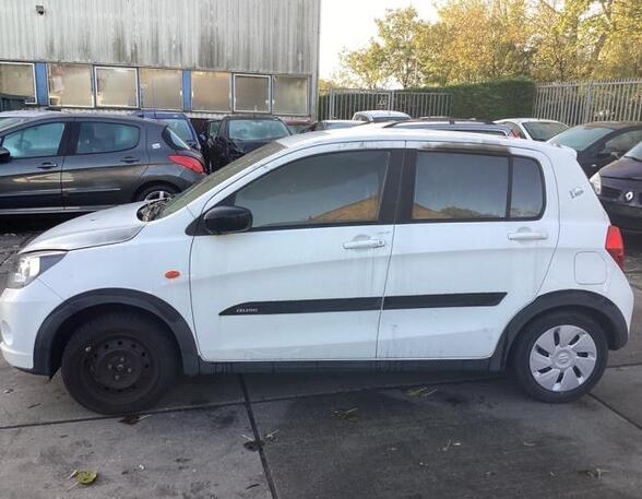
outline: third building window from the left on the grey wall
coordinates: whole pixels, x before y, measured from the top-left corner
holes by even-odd
[[[139,107],[139,82],[135,68],[96,67],[96,105],[102,107]]]

